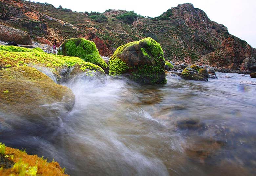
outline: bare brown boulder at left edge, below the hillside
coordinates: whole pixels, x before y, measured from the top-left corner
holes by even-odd
[[[0,40],[14,41],[17,44],[32,45],[29,35],[22,30],[0,24]]]

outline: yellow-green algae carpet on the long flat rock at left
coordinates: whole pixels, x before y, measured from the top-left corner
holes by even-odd
[[[17,46],[0,46],[0,68],[39,65],[48,67],[56,73],[58,67],[72,67],[75,64],[81,65],[81,68],[104,72],[99,66],[78,57],[47,54]]]

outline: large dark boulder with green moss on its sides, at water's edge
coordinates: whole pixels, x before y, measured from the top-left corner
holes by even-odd
[[[109,74],[128,75],[143,83],[166,83],[163,50],[148,37],[117,48],[109,60]]]

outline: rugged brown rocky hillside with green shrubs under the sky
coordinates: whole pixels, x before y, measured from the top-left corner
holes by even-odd
[[[78,13],[22,0],[0,0],[0,8],[0,24],[26,31],[40,43],[51,44],[57,39],[60,45],[66,39],[83,37],[96,43],[101,56],[111,56],[122,44],[151,37],[160,43],[167,60],[244,73],[256,64],[255,48],[189,3],[155,18],[125,10]]]

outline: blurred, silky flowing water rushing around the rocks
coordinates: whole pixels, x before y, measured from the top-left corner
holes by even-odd
[[[240,83],[253,81],[249,75],[217,76],[202,82],[167,75],[166,85],[73,79],[64,85],[75,106],[57,126],[0,137],[54,158],[70,175],[254,175],[256,85]]]

